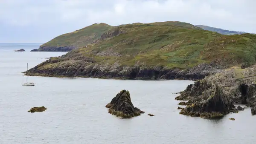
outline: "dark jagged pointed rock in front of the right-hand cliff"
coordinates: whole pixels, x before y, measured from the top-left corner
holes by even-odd
[[[230,97],[223,92],[223,89],[215,85],[215,92],[209,95],[207,100],[197,101],[181,109],[180,114],[201,118],[215,118],[226,115],[229,112],[238,111],[230,100]]]

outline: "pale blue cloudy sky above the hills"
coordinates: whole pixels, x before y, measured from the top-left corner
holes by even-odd
[[[46,43],[93,23],[181,21],[256,33],[256,0],[0,0],[0,43]]]

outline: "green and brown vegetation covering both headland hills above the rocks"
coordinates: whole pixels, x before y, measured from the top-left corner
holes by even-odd
[[[99,38],[102,32],[110,30],[110,33],[116,29],[125,33],[85,47]],[[85,40],[81,37],[87,38]],[[94,24],[56,37],[44,45],[74,43],[80,48],[69,52],[66,55],[68,60],[90,57],[99,64],[118,61],[121,65],[133,66],[143,62],[147,66],[162,65],[184,69],[199,63],[210,63],[212,60],[220,61],[227,67],[256,62],[255,35],[221,35],[181,22],[133,23],[116,27]],[[53,65],[56,64],[58,63]]]

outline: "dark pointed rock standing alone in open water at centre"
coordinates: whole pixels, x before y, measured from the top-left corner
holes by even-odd
[[[131,118],[144,113],[131,103],[129,91],[122,90],[106,105],[108,112],[122,118]]]

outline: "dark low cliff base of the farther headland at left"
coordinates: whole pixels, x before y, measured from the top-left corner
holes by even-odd
[[[75,46],[40,46],[39,49],[33,49],[30,52],[70,52],[77,49]]]

